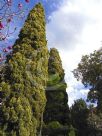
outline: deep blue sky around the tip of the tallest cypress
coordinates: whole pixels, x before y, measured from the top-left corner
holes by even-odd
[[[2,1],[3,0],[0,1],[0,4],[3,3]],[[52,14],[52,12],[56,11],[59,8],[62,1],[63,0],[30,0],[29,3],[26,3],[25,0],[17,0],[16,2],[15,2],[15,0],[12,0],[12,8],[10,7],[12,13],[17,12],[19,9],[18,5],[21,4],[22,5],[21,9],[24,10],[24,14],[22,16],[23,19],[20,18],[19,16],[13,18],[13,20],[10,23],[9,31],[10,31],[10,33],[12,33],[14,31],[15,27],[16,27],[16,31],[15,31],[15,33],[13,33],[12,35],[10,35],[8,37],[8,40],[6,42],[0,41],[2,46],[6,47],[8,44],[13,44],[15,42],[15,39],[18,38],[19,31],[24,24],[24,20],[27,18],[29,11],[35,6],[36,3],[41,2],[43,4],[44,9],[45,9],[45,14],[46,14],[46,22],[48,23],[50,21],[49,20],[50,14]],[[20,14],[20,16],[21,16],[21,14]],[[0,46],[0,51],[1,51],[2,46]]]

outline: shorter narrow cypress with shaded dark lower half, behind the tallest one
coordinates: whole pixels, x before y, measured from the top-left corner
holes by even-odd
[[[64,136],[65,133],[68,135],[70,120],[67,85],[64,81],[62,62],[55,48],[50,50],[48,71],[49,80],[46,88],[47,103],[44,112],[44,123],[49,130],[49,136]]]

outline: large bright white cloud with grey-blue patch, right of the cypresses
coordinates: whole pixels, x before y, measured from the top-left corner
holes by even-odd
[[[81,56],[100,48],[102,41],[102,1],[65,0],[51,15],[47,24],[49,47],[60,51],[68,83],[69,105],[74,99],[84,97],[88,90],[77,82],[71,71]],[[78,88],[81,86],[82,88]]]

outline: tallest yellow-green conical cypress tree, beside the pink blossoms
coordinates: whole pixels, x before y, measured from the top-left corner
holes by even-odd
[[[0,134],[36,136],[46,104],[48,50],[44,9],[38,3],[29,13],[12,56],[7,57],[0,84]]]

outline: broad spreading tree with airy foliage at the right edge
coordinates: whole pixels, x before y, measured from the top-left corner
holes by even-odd
[[[97,100],[98,110],[102,111],[102,48],[83,56],[73,73],[85,86],[90,86],[88,99]]]

